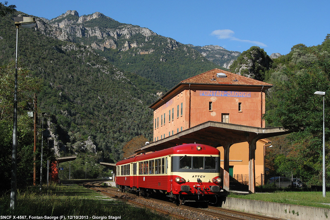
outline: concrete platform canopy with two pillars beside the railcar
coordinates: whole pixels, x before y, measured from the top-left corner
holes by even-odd
[[[223,122],[208,121],[188,128],[169,137],[147,144],[135,153],[147,153],[166,149],[182,143],[200,143],[224,148],[223,189],[229,192],[229,148],[235,143],[248,142],[249,145],[249,192],[255,193],[255,150],[259,139],[269,138],[297,130],[283,127],[259,128]]]

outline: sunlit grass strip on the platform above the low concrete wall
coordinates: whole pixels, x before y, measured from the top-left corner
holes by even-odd
[[[256,193],[248,195],[238,195],[230,193],[228,197],[261,200],[267,202],[279,202],[294,205],[305,205],[320,208],[330,208],[330,205],[322,203],[330,203],[329,193],[326,197],[322,197],[322,192],[294,192],[294,191],[275,191],[269,193]]]

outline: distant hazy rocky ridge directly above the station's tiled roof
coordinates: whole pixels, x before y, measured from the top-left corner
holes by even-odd
[[[203,56],[205,56],[208,60],[229,69],[230,65],[237,59],[237,57],[241,54],[238,51],[228,51],[223,47],[217,45],[207,45],[207,46],[194,46],[188,44],[189,47],[197,50]]]

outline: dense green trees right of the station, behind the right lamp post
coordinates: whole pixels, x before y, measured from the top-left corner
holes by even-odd
[[[330,140],[327,123],[330,120],[329,36],[318,46],[293,46],[289,54],[274,59],[271,69],[265,74],[266,81],[274,84],[274,88],[267,92],[265,119],[268,126],[301,128],[300,132],[275,139],[272,150],[277,154],[270,154],[268,159],[274,164],[275,172],[301,176],[312,185],[322,183],[323,98],[315,96],[316,91],[326,92],[325,142]],[[328,144],[326,155],[329,155]],[[328,166],[329,160],[326,160]],[[329,177],[330,170],[327,169],[328,185]]]

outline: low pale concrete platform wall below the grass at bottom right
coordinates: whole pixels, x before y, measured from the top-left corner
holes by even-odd
[[[222,208],[290,220],[330,219],[330,209],[277,202],[224,198]]]

